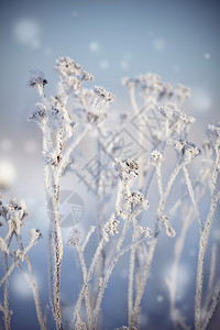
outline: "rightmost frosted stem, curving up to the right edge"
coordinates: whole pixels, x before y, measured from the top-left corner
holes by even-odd
[[[195,299],[195,329],[199,330],[201,328],[201,295],[202,295],[202,284],[204,284],[204,261],[207,251],[207,245],[209,241],[209,234],[211,230],[211,224],[213,220],[213,215],[217,208],[217,204],[220,199],[220,191],[213,195],[211,198],[211,205],[209,213],[207,217],[206,224],[200,235],[199,241],[199,255],[198,255],[198,266],[197,266],[197,282],[196,282],[196,299]]]

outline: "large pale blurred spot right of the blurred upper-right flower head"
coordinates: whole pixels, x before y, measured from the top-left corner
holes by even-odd
[[[205,89],[193,88],[191,105],[198,112],[205,112],[211,108],[211,98]]]

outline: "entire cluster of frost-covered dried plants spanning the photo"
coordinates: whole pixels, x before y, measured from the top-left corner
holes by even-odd
[[[108,117],[107,109],[114,97],[102,87],[85,88],[84,84],[94,78],[69,57],[58,58],[55,68],[59,76],[59,85],[57,94],[51,98],[45,96],[47,80],[44,74],[31,72],[29,86],[37,89],[41,100],[34,106],[29,120],[38,125],[43,136],[44,185],[50,218],[50,301],[56,329],[62,330],[65,320],[61,308],[61,267],[64,257],[58,205],[61,177],[64,172],[70,168],[73,163],[72,170],[76,168],[77,156],[75,156],[74,151],[89,131],[94,132],[97,140],[98,155],[100,155],[100,141],[105,144],[111,140],[112,133],[109,133],[105,120]],[[99,201],[97,201],[97,226],[91,226],[88,229],[84,240],[80,228],[75,227],[68,239],[68,245],[78,253],[82,274],[82,286],[77,300],[73,302],[70,329],[102,329],[105,324],[101,324],[100,310],[105,290],[117,263],[125,253],[130,255],[128,265],[128,324],[120,329],[141,328],[141,302],[155,250],[163,231],[167,234],[167,239],[175,241],[174,264],[170,276],[166,278],[169,294],[169,317],[175,329],[189,329],[184,311],[177,307],[176,292],[179,260],[185,248],[187,232],[195,219],[198,222],[200,233],[195,290],[195,329],[207,329],[220,295],[220,280],[215,283],[217,255],[215,246],[207,297],[204,297],[202,290],[205,256],[215,212],[220,199],[218,183],[220,125],[209,125],[207,140],[198,147],[188,141],[188,133],[195,119],[179,110],[190,96],[188,88],[182,85],[174,88],[164,84],[158,76],[153,74],[140,75],[133,79],[125,78],[122,84],[129,89],[134,113],[139,114],[140,100],[143,105],[151,103],[161,118],[162,125],[158,130],[151,131],[152,151],[147,158],[143,154],[138,160],[117,157],[117,153],[112,155],[117,194],[114,194],[113,185],[108,194],[102,190],[100,183],[107,180],[107,174],[103,169],[97,179],[97,190],[99,190],[100,196]],[[72,109],[69,105],[72,105]],[[127,116],[122,117],[123,119],[127,118]],[[75,119],[73,120],[73,118]],[[145,120],[150,120],[148,118],[150,113],[146,111]],[[139,132],[139,141],[144,144],[141,131]],[[111,150],[112,153],[117,151],[117,142]],[[167,150],[169,153],[173,151],[176,153],[176,156],[173,156],[173,163],[166,158]],[[197,158],[196,177],[191,165],[195,158]],[[175,200],[172,195],[173,189],[184,191],[184,195],[176,195]],[[106,220],[105,212],[111,206],[109,200],[112,195],[116,196],[114,208],[113,211],[112,209],[110,211],[109,220]],[[208,207],[207,215],[201,213],[199,209],[199,202],[205,197]],[[152,209],[151,205],[153,205]],[[21,228],[25,224],[26,215],[24,201],[21,201],[20,205],[14,200],[10,201],[9,205],[3,205],[0,201],[0,217],[4,220],[0,224],[2,232],[6,233],[0,237],[0,249],[4,256],[6,270],[6,274],[0,279],[0,285],[4,286],[0,310],[3,314],[8,330],[11,329],[12,314],[9,304],[9,279],[15,267],[23,272],[33,289],[40,328],[47,329],[46,314],[44,316],[42,314],[36,280],[28,256],[30,250],[34,249],[34,244],[41,238],[41,233],[38,230],[32,229],[29,243],[26,245],[23,243]],[[151,221],[148,215],[151,218],[153,217]],[[182,221],[182,229],[178,233],[175,231],[174,219]],[[98,232],[97,248],[91,261],[88,261],[85,256],[85,250],[95,231]],[[16,241],[16,250],[11,250],[12,240]],[[22,262],[26,263],[26,268]],[[145,299],[147,299],[147,290],[145,295]]]

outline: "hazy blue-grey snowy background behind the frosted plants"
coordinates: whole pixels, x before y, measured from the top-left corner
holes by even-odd
[[[9,175],[11,179],[11,188],[6,193],[6,199],[16,197],[26,200],[30,213],[28,227],[36,226],[45,232],[31,255],[35,261],[34,268],[43,305],[47,302],[47,218],[41,134],[26,122],[26,114],[37,100],[35,90],[26,87],[29,70],[44,70],[50,82],[50,92],[54,90],[57,81],[53,69],[55,59],[69,56],[95,76],[95,84],[117,96],[113,105],[117,111],[131,108],[128,91],[120,82],[124,76],[133,77],[151,72],[162,76],[164,81],[182,82],[191,88],[193,96],[187,103],[187,113],[197,119],[194,132],[197,142],[200,141],[208,122],[220,120],[219,32],[219,6],[216,1],[0,1],[0,176],[4,173],[4,178]],[[77,191],[84,200],[85,213],[81,222],[86,227],[96,209],[94,197],[82,183],[74,178],[64,179],[63,188]],[[189,245],[191,238],[194,233],[188,238]],[[219,240],[219,235],[215,239]],[[184,255],[179,277],[179,305],[191,317],[197,257],[195,246],[193,244],[188,254]],[[160,270],[164,272],[167,267],[164,253],[172,253],[172,245],[167,249],[169,250],[161,249],[156,255]],[[78,275],[74,271],[74,252],[67,250],[66,254],[68,256],[64,261],[62,274],[63,292],[66,295],[63,300],[69,301],[76,298],[74,289],[78,287]],[[73,267],[70,271],[69,264]],[[111,283],[103,301],[105,324],[109,330],[123,324],[127,319],[125,270],[124,262],[113,277],[117,280]],[[151,299],[145,295],[143,301],[143,329],[158,329],[156,324],[160,317],[160,330],[165,330],[170,324],[167,319],[168,301],[163,282],[164,273],[154,276],[153,279],[150,278],[151,285],[148,282],[146,287],[147,297]],[[111,289],[113,285],[114,290]],[[124,294],[116,299],[118,287]],[[19,272],[14,272],[11,277],[11,308],[14,309],[12,329],[37,329],[31,292]],[[218,321],[217,312],[210,329],[217,329]]]

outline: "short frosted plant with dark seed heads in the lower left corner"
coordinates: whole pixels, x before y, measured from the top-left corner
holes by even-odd
[[[0,279],[0,286],[4,285],[3,305],[0,304],[0,310],[3,312],[4,327],[7,330],[11,329],[10,320],[12,315],[12,310],[10,310],[9,306],[9,277],[15,267],[22,271],[31,285],[40,327],[42,330],[46,329],[46,319],[42,315],[36,279],[28,256],[32,248],[38,242],[41,232],[38,229],[30,229],[29,243],[26,244],[24,242],[22,238],[22,227],[24,227],[26,216],[26,206],[23,200],[19,204],[16,204],[15,200],[11,200],[7,205],[0,200],[0,219],[3,219],[3,222],[0,222],[0,252],[4,255],[4,275]],[[11,248],[13,241],[16,242],[15,250]],[[22,262],[26,263],[28,271],[21,265]]]

